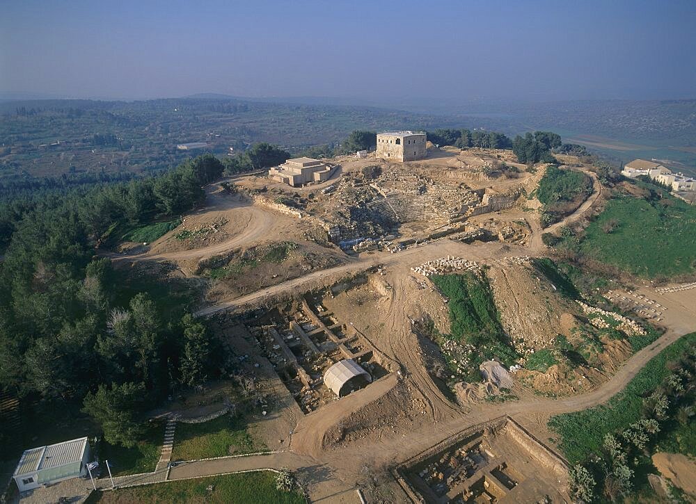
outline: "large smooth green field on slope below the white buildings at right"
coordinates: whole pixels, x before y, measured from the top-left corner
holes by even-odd
[[[610,229],[610,231],[607,231]],[[696,273],[696,206],[673,197],[661,200],[619,195],[587,229],[567,238],[583,257],[640,277]]]

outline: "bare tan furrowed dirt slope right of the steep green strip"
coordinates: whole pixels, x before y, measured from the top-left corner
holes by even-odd
[[[531,266],[500,261],[488,276],[503,329],[521,355],[551,346],[560,328],[570,327],[578,309]]]

